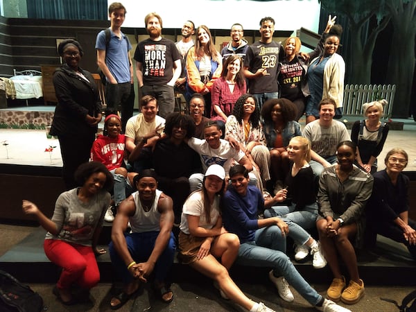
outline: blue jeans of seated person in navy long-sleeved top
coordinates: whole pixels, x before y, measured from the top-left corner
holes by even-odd
[[[286,237],[281,236],[277,225],[257,229],[255,241],[242,243],[236,263],[244,266],[273,268],[275,276],[283,275],[295,290],[315,306],[322,296],[297,272],[291,259],[286,256]]]

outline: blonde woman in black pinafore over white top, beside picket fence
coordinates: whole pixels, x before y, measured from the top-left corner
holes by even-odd
[[[380,121],[383,107],[387,101],[373,101],[363,104],[365,120],[358,120],[352,125],[351,140],[357,146],[356,164],[367,173],[377,171],[377,156],[387,139],[388,124]]]

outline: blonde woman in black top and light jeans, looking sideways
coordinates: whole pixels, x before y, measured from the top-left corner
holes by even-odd
[[[309,166],[311,160],[311,142],[305,137],[293,137],[288,145],[288,157],[291,170],[286,177],[286,198],[291,200],[290,206],[275,206],[264,211],[266,218],[279,216],[289,227],[288,236],[296,244],[295,260],[302,261],[309,255],[313,256],[313,267],[323,268],[327,261],[320,252],[320,245],[306,232],[315,227],[318,217],[316,191],[313,187],[313,171]]]

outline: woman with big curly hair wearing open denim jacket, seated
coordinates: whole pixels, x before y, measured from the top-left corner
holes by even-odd
[[[293,137],[302,136],[300,124],[295,121],[297,108],[286,98],[270,98],[261,108],[263,131],[270,149],[274,192],[283,189],[283,181],[289,171],[286,147]]]

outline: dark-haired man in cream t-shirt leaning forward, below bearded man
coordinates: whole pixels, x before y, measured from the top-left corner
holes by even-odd
[[[140,143],[145,143],[140,148],[154,146],[164,130],[165,119],[157,115],[159,107],[154,96],[143,96],[140,107],[141,113],[132,116],[125,126],[125,149],[129,153],[132,153]],[[150,168],[146,159],[139,158],[132,165],[135,172]]]

